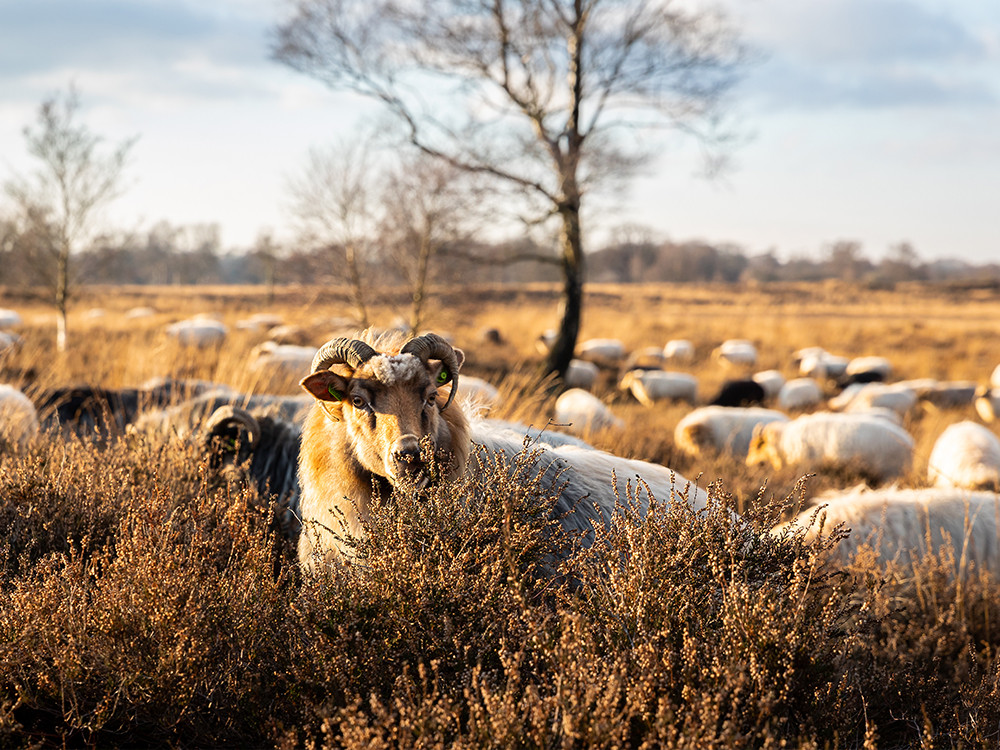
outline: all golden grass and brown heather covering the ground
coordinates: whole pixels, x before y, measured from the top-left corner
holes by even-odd
[[[377,310],[389,323],[391,294]],[[346,296],[281,290],[273,310],[322,343]],[[551,289],[442,292],[430,325],[501,384],[496,415],[541,425],[528,388],[534,338],[555,322]],[[390,304],[392,303],[392,304]],[[253,290],[100,290],[53,354],[51,314],[11,296],[25,345],[3,379],[28,390],[128,386],[154,375],[257,385],[259,334],[218,350],[169,342],[165,323],[265,308]],[[151,319],[125,322],[135,305]],[[933,289],[592,289],[583,335],[630,347],[689,338],[703,394],[725,374],[709,352],[758,344],[761,369],[821,344],[879,353],[897,376],[986,382],[1000,362],[1000,300]],[[496,326],[506,343],[480,342]],[[289,386],[289,392],[291,386]],[[863,556],[823,568],[836,539],[764,534],[786,506],[857,477],[800,481],[673,445],[686,409],[645,409],[606,384],[629,424],[590,436],[711,483],[713,502],[623,523],[567,555],[546,521],[552,488],[524,465],[385,499],[364,565],[303,580],[271,535],[266,503],[212,477],[179,444],[42,440],[0,456],[0,745],[280,747],[991,747],[1000,742],[1000,585],[956,585],[929,558],[915,590]],[[971,410],[906,427],[920,485],[933,440]],[[763,489],[762,489],[763,487]],[[737,521],[725,511],[741,512]],[[562,563],[558,561],[562,560]],[[553,567],[560,565],[558,574]]]

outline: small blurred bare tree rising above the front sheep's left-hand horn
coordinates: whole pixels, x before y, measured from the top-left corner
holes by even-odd
[[[368,144],[355,140],[311,149],[305,167],[288,185],[303,238],[343,249],[347,282],[363,328],[370,324],[364,269],[374,252],[377,179]]]

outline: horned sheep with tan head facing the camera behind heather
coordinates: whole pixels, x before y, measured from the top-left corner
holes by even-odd
[[[302,380],[316,399],[299,454],[304,566],[355,555],[345,534],[363,535],[374,492],[387,497],[394,486],[420,491],[476,471],[496,454],[510,458],[524,450],[523,439],[507,428],[486,421],[470,426],[453,403],[464,358],[434,334],[405,339],[366,333],[320,349],[313,372]],[[485,451],[473,452],[474,445]],[[704,490],[662,466],[571,445],[535,450],[543,478],[563,488],[555,517],[563,528],[588,534],[585,544],[593,540],[594,525],[607,524],[615,512],[613,476],[620,484],[641,477],[662,502],[682,493],[695,507],[707,502]],[[642,512],[648,501],[637,495]]]

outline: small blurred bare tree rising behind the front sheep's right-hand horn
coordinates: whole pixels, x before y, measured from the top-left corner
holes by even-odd
[[[417,153],[386,178],[382,245],[410,290],[409,326],[424,326],[429,281],[442,250],[468,238],[476,191],[461,170]]]

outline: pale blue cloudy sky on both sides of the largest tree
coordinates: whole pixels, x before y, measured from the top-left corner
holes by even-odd
[[[695,0],[689,0],[695,2]],[[674,241],[1000,262],[1000,0],[721,0],[755,50],[731,99],[739,145],[703,176],[671,138],[614,205]],[[282,0],[0,0],[0,181],[23,129],[75,86],[81,121],[138,140],[109,222],[216,223],[224,248],[290,240],[288,179],[374,113],[270,58]],[[609,235],[604,235],[609,236]]]

